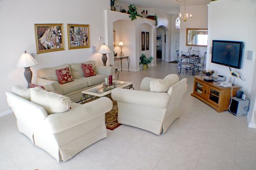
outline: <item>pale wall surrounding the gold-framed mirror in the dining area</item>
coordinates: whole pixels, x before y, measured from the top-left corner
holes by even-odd
[[[225,6],[227,8],[227,6]],[[184,14],[184,6],[180,6],[180,13]],[[188,51],[186,46],[186,29],[187,28],[208,28],[208,9],[207,5],[186,6],[186,13],[192,14],[192,19],[187,21],[180,20],[179,32],[179,51]],[[218,13],[218,12],[217,12]],[[192,47],[192,50],[199,50],[200,55],[207,51],[206,47]]]

